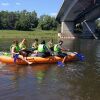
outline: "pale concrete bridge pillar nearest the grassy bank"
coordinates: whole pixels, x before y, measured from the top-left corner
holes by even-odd
[[[62,22],[61,23],[61,33],[66,37],[73,37],[74,22]]]

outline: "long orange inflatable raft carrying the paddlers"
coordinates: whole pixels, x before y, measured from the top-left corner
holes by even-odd
[[[74,61],[76,59],[77,59],[76,54],[70,53],[70,54],[68,54],[65,62]],[[63,58],[57,57],[57,56],[50,56],[50,57],[46,57],[46,58],[27,57],[27,60],[30,61],[30,62],[33,62],[33,64],[38,64],[38,63],[48,63],[49,64],[49,63],[56,63],[58,61],[62,61]],[[11,56],[1,55],[0,56],[0,62],[6,63],[6,64],[14,64],[14,58],[12,58]],[[25,65],[27,63],[25,61],[21,60],[21,59],[17,59],[16,64]]]

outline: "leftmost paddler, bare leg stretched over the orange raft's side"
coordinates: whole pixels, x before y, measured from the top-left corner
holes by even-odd
[[[17,40],[13,41],[13,44],[10,47],[10,52],[12,54],[12,57],[14,58],[14,62],[16,63],[16,60],[18,58],[22,59],[23,61],[27,62],[28,64],[32,64],[32,62],[29,62],[28,60],[26,60],[25,57],[23,57],[22,55],[19,54],[20,51],[20,47],[19,47],[19,43]]]

